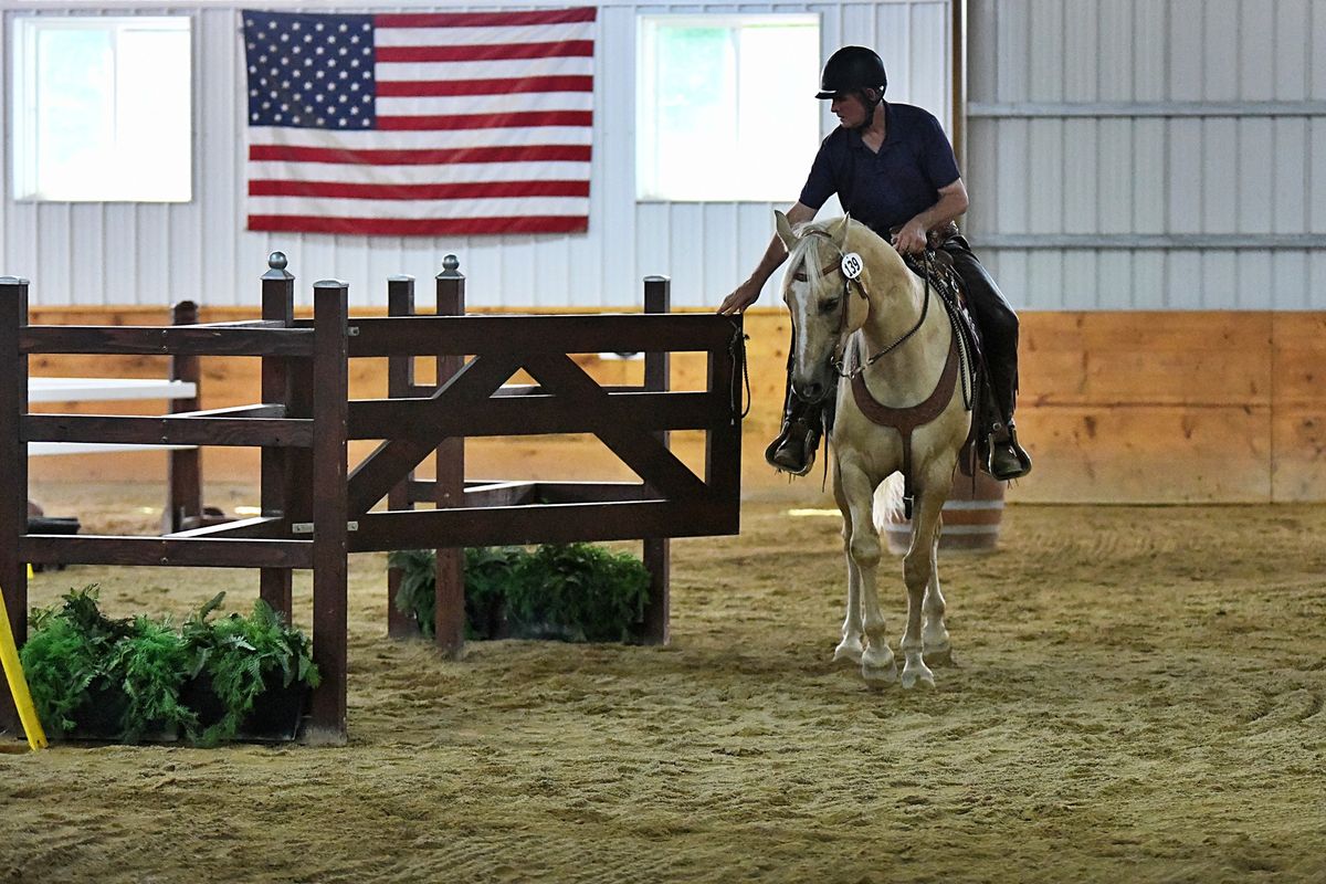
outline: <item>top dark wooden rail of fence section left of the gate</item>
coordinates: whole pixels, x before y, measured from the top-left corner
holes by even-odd
[[[27,326],[23,354],[172,354],[190,357],[312,357],[312,329],[194,326]]]

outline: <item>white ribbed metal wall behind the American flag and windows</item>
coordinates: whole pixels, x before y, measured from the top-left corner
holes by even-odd
[[[590,0],[591,1],[591,0]],[[0,182],[0,274],[33,280],[33,305],[256,304],[267,254],[282,250],[300,280],[300,302],[318,278],[350,282],[354,305],[385,305],[386,277],[408,273],[427,289],[448,252],[460,256],[472,306],[630,306],[640,278],[672,277],[676,306],[717,305],[749,273],[773,231],[766,203],[636,203],[634,184],[635,23],[638,13],[815,12],[823,54],[845,42],[875,45],[890,72],[890,95],[919,103],[940,119],[951,114],[951,0],[833,4],[646,5],[599,0],[595,60],[594,160],[590,229],[578,236],[355,237],[244,231],[244,65],[236,9],[301,8],[288,1],[248,4],[194,0],[150,7],[129,0],[73,0],[58,13],[191,12],[195,16],[195,199],[179,205],[33,204],[9,193],[9,23],[19,12],[49,12],[52,3],[9,7],[0,34],[4,58],[4,175]],[[444,0],[390,5],[365,0],[354,11],[451,7]],[[534,4],[492,3],[488,7]],[[575,5],[565,0],[548,5]],[[325,7],[302,4],[310,11]],[[789,101],[814,101],[818,83]],[[827,134],[834,121],[823,111]],[[777,138],[770,121],[769,137]],[[801,190],[788,182],[788,204]],[[777,280],[764,304],[773,304]]]

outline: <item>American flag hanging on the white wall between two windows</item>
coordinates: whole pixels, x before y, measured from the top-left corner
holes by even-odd
[[[589,229],[595,12],[244,11],[249,229]]]

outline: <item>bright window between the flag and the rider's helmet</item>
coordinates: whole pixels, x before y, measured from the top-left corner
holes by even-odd
[[[819,146],[818,16],[643,16],[639,60],[639,199],[796,199]]]

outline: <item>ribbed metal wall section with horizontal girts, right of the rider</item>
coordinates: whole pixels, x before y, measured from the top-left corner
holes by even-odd
[[[1326,3],[968,1],[969,231],[1016,305],[1326,307]]]

